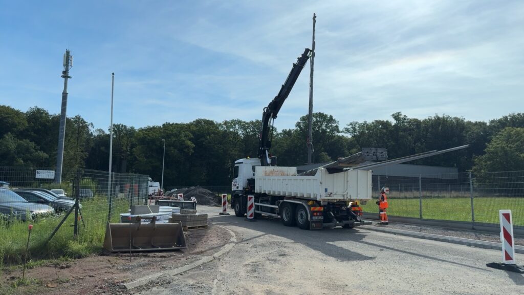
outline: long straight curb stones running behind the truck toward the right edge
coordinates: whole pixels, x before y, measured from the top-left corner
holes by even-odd
[[[408,236],[408,237],[413,237],[413,238],[442,241],[442,242],[451,243],[451,244],[474,246],[477,248],[502,250],[502,246],[500,243],[494,243],[494,242],[488,242],[488,241],[466,239],[466,238],[456,238],[456,237],[441,236],[441,235],[435,235],[435,234],[417,233],[416,231],[393,229],[393,228],[382,228],[382,227],[376,227],[376,226],[367,226],[367,227],[363,227],[363,229],[381,231],[382,233],[397,234],[397,235]],[[519,254],[524,254],[524,247],[515,245],[515,252]]]

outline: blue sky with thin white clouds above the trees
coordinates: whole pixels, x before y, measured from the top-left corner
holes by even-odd
[[[0,0],[0,104],[95,128],[255,120],[311,47],[314,111],[351,121],[435,113],[487,121],[524,111],[522,1]],[[275,127],[308,112],[309,64]]]

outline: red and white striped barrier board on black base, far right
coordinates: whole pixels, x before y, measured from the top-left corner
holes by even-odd
[[[499,210],[500,240],[502,242],[502,263],[492,262],[488,267],[524,273],[524,268],[515,263],[515,243],[511,210]]]

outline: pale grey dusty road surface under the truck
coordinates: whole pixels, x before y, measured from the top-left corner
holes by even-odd
[[[523,294],[524,276],[486,267],[496,250],[357,229],[300,230],[200,207],[238,244],[143,294]],[[524,255],[517,254],[524,264]]]

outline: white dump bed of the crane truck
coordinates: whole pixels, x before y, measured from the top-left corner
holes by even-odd
[[[330,174],[319,167],[314,175],[297,175],[297,167],[257,166],[255,192],[316,201],[368,200],[372,172],[348,170]]]

